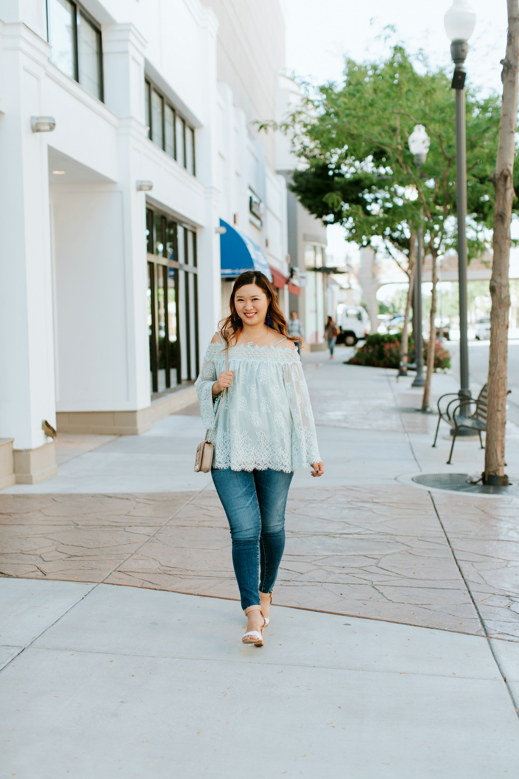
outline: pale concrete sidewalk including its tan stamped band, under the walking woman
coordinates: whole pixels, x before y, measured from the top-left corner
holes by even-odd
[[[519,499],[416,485],[484,453],[461,440],[447,466],[412,379],[337,352],[304,358],[326,471],[293,480],[261,650],[240,643],[225,516],[192,471],[196,408],[61,438],[57,477],[0,493],[5,776],[237,777],[258,735],[268,777],[514,774]],[[516,482],[518,443],[510,423]]]

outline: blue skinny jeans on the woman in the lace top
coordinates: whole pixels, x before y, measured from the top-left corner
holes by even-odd
[[[293,474],[283,471],[211,471],[229,520],[241,608],[272,592],[285,548],[285,508]]]

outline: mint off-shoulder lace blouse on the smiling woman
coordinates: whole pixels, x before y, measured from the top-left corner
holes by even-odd
[[[222,402],[220,397],[212,400],[212,385],[225,370],[224,345],[209,344],[195,382],[209,430]],[[212,437],[212,467],[290,473],[320,462],[314,414],[296,349],[232,346],[229,370],[235,373]]]

